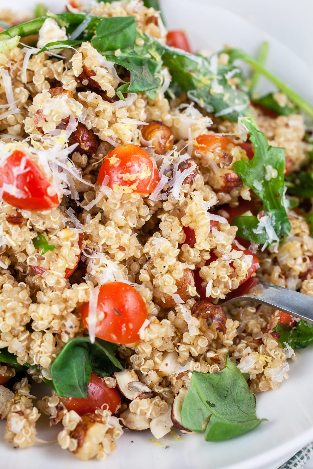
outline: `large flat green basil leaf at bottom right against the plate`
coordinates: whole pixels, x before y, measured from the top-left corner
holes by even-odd
[[[205,431],[206,441],[221,441],[242,435],[266,420],[255,414],[256,400],[248,378],[229,357],[220,373],[193,371],[183,401],[183,426],[197,433]]]

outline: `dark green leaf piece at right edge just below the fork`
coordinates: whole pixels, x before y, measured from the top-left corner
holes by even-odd
[[[313,342],[313,324],[301,319],[296,327],[291,329],[289,324],[279,323],[273,331],[278,332],[278,341],[287,342],[292,348],[305,348]]]

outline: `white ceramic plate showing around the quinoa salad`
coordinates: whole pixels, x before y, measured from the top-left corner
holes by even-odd
[[[35,0],[15,0],[11,8],[31,8],[35,3]],[[54,12],[64,5],[62,0],[46,0],[46,3]],[[313,102],[310,69],[313,3],[308,0],[163,0],[162,6],[168,27],[187,30],[195,50],[205,47],[215,51],[224,43],[231,43],[256,53],[260,42],[269,40],[268,67]],[[0,0],[0,8],[8,8],[8,3]],[[262,80],[260,89],[267,91],[271,87]],[[158,445],[149,441],[152,437],[149,431],[126,431],[118,440],[117,451],[106,461],[83,463],[53,444],[23,451],[13,449],[2,442],[5,422],[0,422],[0,468],[277,469],[313,440],[312,347],[301,351],[297,363],[290,363],[289,375],[278,391],[257,396],[257,415],[266,417],[268,422],[241,438],[206,443],[203,435],[181,435],[183,440],[170,435]],[[46,429],[43,424],[38,428],[39,437],[46,440],[55,439],[59,431],[59,428]]]

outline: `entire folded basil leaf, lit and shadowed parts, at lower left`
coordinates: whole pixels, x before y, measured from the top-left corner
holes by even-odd
[[[114,355],[117,347],[100,339],[92,344],[89,337],[69,340],[50,367],[52,383],[58,395],[86,398],[91,371],[104,377],[122,370],[121,363]]]

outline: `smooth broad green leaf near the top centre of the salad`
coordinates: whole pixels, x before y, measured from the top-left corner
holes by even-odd
[[[100,53],[133,47],[136,28],[134,16],[102,18],[96,26],[96,36],[92,39],[92,45]]]

